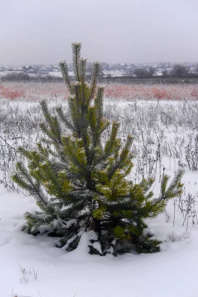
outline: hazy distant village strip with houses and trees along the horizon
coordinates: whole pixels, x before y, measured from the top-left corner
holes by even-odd
[[[73,75],[72,64],[68,65],[69,73]],[[88,74],[92,72],[92,63],[88,63]],[[61,77],[58,65],[24,65],[21,67],[1,66],[0,76],[9,73],[25,73],[31,76],[56,76]],[[130,64],[118,63],[110,65],[101,62],[100,76],[131,76],[137,78],[152,77],[198,77],[198,63],[149,63],[149,64]]]

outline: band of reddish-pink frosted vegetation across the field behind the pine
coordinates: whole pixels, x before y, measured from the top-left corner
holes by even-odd
[[[0,99],[67,99],[68,92],[61,83],[1,83]],[[105,86],[105,98],[123,100],[197,100],[198,85],[122,85]]]

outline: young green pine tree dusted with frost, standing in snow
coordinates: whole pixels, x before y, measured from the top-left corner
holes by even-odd
[[[18,162],[13,180],[40,208],[25,213],[25,229],[36,235],[45,227],[49,236],[59,237],[55,245],[68,251],[78,246],[85,232],[90,253],[158,251],[160,242],[144,233],[145,219],[156,217],[168,199],[181,194],[183,172],[176,173],[169,187],[169,177],[163,175],[158,198],[150,191],[152,179],[140,184],[126,179],[133,167],[132,137],[123,144],[118,138],[119,123],[110,124],[104,118],[104,89],[97,87],[99,62],[93,64],[88,84],[81,44],[73,43],[72,51],[74,81],[66,61],[59,63],[70,93],[68,115],[63,107],[56,107],[52,115],[43,100],[40,127],[45,137],[35,150],[19,148],[28,165]],[[105,131],[110,131],[107,140],[102,138]]]

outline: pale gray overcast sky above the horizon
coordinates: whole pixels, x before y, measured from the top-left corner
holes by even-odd
[[[198,60],[198,0],[0,0],[0,64]]]

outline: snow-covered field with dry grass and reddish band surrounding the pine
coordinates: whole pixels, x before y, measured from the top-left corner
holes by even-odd
[[[122,86],[120,91],[120,86],[107,86],[105,116],[121,123],[121,138],[134,137],[131,178],[138,183],[155,177],[157,196],[163,172],[173,178],[182,166],[185,174],[182,197],[170,200],[166,212],[147,222],[162,241],[160,252],[100,257],[89,255],[83,243],[66,252],[53,246],[55,238],[21,231],[24,212],[37,206],[10,180],[19,158],[16,148],[33,148],[39,139],[38,99],[48,96],[52,112],[60,103],[66,110],[62,85],[24,85],[0,85],[0,297],[197,296],[198,87]],[[120,99],[112,95],[116,88],[123,94]],[[8,91],[18,97],[9,97]]]

